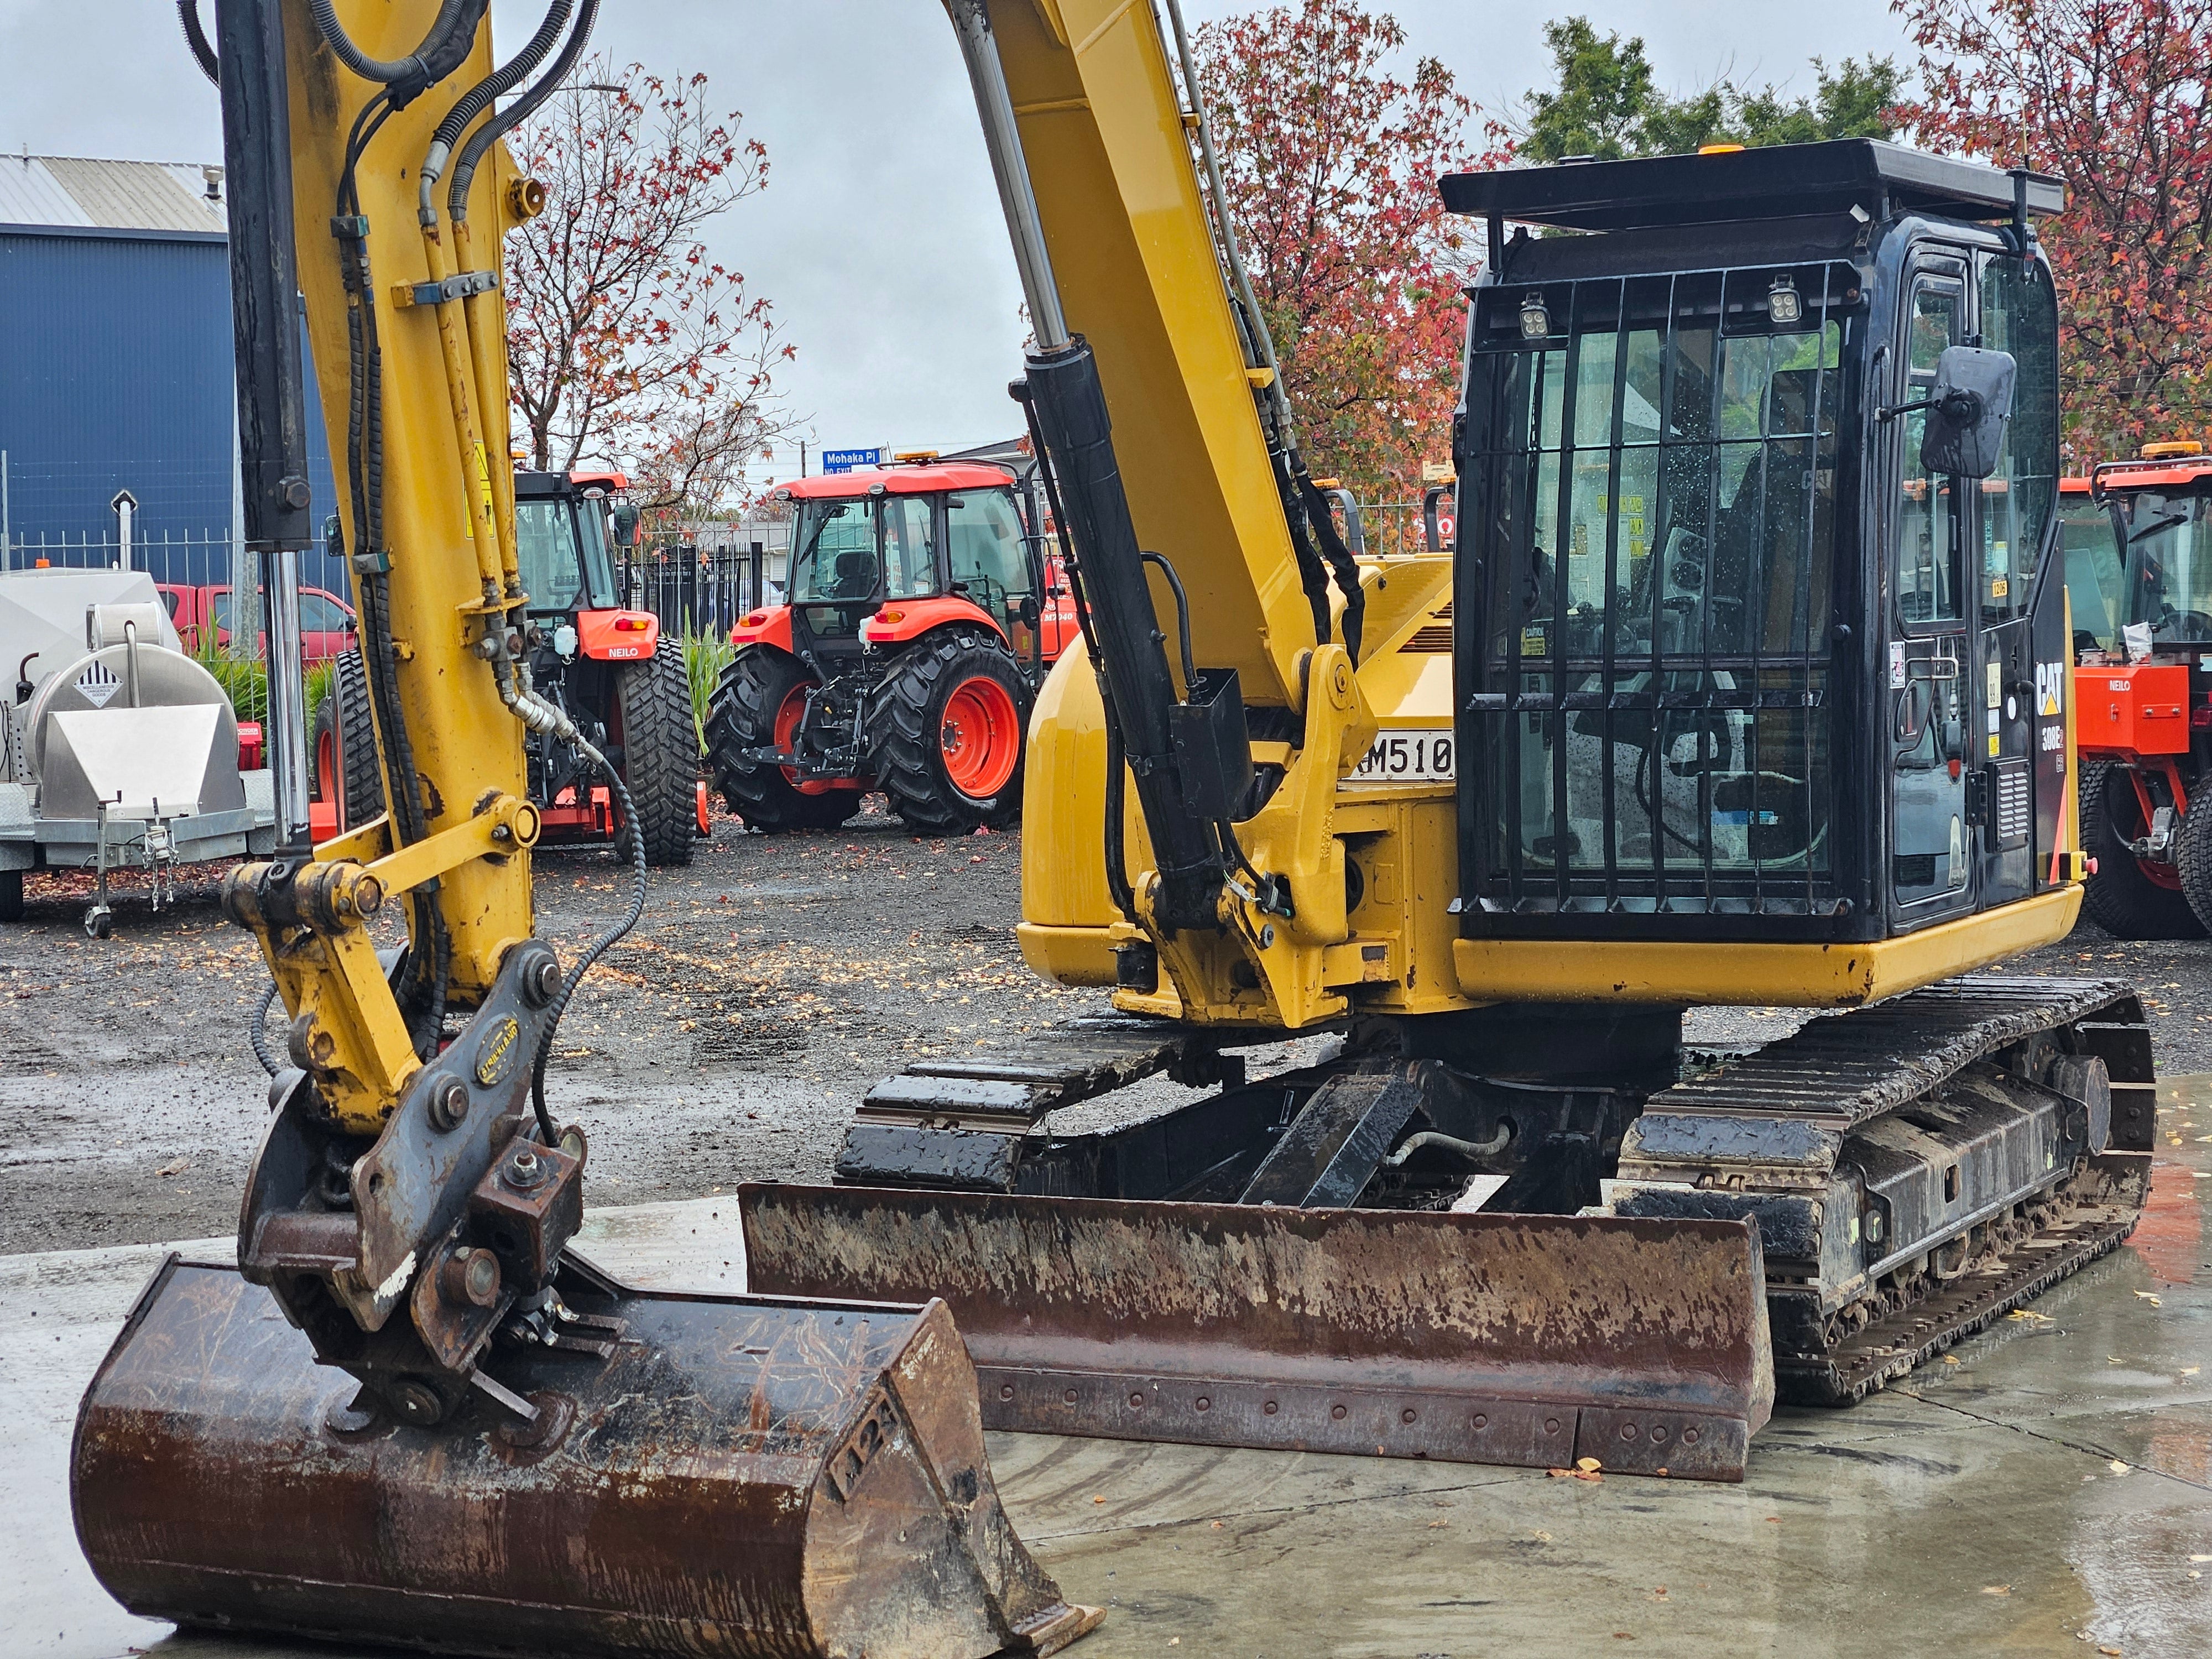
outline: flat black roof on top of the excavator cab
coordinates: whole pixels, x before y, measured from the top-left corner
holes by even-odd
[[[2011,219],[2015,190],[2033,217],[2066,210],[2066,186],[2051,175],[1953,161],[1880,139],[1449,173],[1438,188],[1451,212],[1562,230],[1801,219],[1851,208],[1876,219],[1905,210]]]

